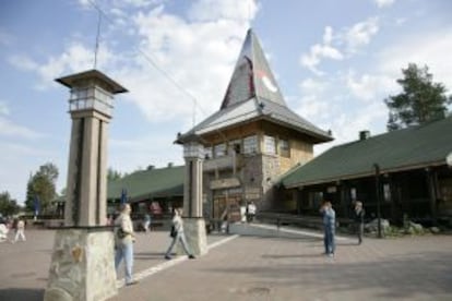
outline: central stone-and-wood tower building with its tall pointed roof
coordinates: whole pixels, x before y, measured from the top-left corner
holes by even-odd
[[[314,144],[331,140],[287,107],[250,29],[221,109],[176,143],[204,146],[204,217],[217,219],[250,201],[258,210],[277,207],[274,188],[281,174],[309,161]]]

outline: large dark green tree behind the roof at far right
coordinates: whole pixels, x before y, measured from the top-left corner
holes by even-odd
[[[418,68],[409,63],[407,69],[402,69],[402,73],[403,79],[399,79],[397,83],[403,92],[384,99],[390,110],[388,130],[444,118],[452,96],[445,95],[444,85],[432,82],[433,76],[428,72],[428,67]]]

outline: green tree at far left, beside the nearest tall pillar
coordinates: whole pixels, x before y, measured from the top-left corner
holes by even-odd
[[[35,208],[35,197],[38,197],[41,213],[47,213],[51,201],[57,196],[56,181],[58,168],[51,162],[39,167],[35,174],[31,174],[27,183],[25,206],[29,210]]]

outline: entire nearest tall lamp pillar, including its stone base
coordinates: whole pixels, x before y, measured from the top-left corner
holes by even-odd
[[[57,230],[45,301],[106,300],[117,293],[107,220],[107,139],[112,95],[126,88],[97,70],[57,82],[71,88],[64,227]]]

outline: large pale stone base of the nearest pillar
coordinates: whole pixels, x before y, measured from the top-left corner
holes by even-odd
[[[117,294],[114,248],[109,229],[57,230],[44,300],[98,301]]]

